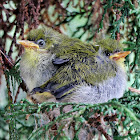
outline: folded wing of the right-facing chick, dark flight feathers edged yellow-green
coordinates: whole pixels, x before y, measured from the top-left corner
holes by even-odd
[[[60,65],[60,64],[59,64]],[[57,72],[41,87],[33,89],[33,93],[49,91],[57,99],[72,93],[74,87],[80,84],[83,75],[80,76],[80,72],[75,68],[74,64],[61,65]]]

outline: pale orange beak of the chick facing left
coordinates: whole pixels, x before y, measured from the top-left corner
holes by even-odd
[[[23,45],[25,48],[39,49],[39,46],[32,41],[21,40],[18,43]]]

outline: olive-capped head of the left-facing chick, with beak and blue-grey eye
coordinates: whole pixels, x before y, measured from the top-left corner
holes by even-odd
[[[61,35],[62,36],[62,35]],[[25,51],[45,51],[53,47],[53,44],[60,43],[60,34],[51,28],[33,29],[27,35],[27,40],[19,41],[25,48]]]

